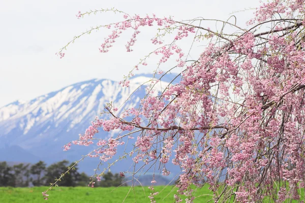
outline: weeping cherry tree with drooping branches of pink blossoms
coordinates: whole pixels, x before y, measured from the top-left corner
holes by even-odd
[[[110,161],[117,147],[126,145],[123,140],[134,136],[134,150],[121,154],[122,158],[131,157],[135,164],[161,165],[164,176],[170,173],[167,164],[180,166],[176,202],[193,202],[194,190],[203,182],[209,185],[215,202],[303,202],[303,0],[262,4],[245,25],[247,28],[237,26],[234,18],[175,21],[155,15],[131,16],[115,9],[78,12],[77,17],[98,12],[116,12],[123,20],[89,29],[70,43],[85,33],[108,28],[112,33],[100,47],[104,53],[111,51],[115,40],[126,30],[133,30],[125,45],[131,52],[143,27],[156,26],[159,30],[151,39],[157,48],[140,60],[121,85],[129,86],[136,70],[149,63],[149,56],[158,55],[160,60],[138,108],[118,111],[118,107],[107,105],[102,114],[109,119],[97,117],[78,140],[65,145],[65,150],[73,144],[96,145],[97,149],[87,156]],[[222,23],[223,27],[213,30],[203,26],[205,21]],[[226,27],[235,31],[226,32]],[[165,36],[172,40],[167,42]],[[190,38],[197,45],[208,42],[200,47],[201,53],[195,59],[189,59],[190,50],[178,45]],[[66,47],[58,52],[60,57],[65,55]],[[162,73],[160,66],[171,58],[176,59],[176,64]],[[161,93],[155,92],[162,78],[175,70],[182,70],[176,74],[175,80],[179,81],[173,80]],[[103,140],[99,139],[101,130],[122,133]],[[100,177],[96,174],[90,186]],[[156,202],[154,196],[158,192],[155,181],[151,183],[149,198]],[[187,199],[181,199],[181,195]]]

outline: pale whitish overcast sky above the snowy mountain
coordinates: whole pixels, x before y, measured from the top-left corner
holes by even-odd
[[[79,10],[114,7],[131,15],[154,13],[158,17],[174,16],[175,20],[227,20],[230,13],[240,11],[234,13],[237,24],[246,27],[254,10],[242,10],[258,5],[258,0],[0,0],[0,107],[93,78],[119,81],[139,58],[153,51],[149,49],[150,39],[157,30],[144,28],[133,53],[125,51],[130,32],[123,34],[107,54],[99,53],[110,31],[100,29],[77,40],[59,59],[55,53],[75,35],[91,26],[123,20],[121,15],[110,13],[77,19]],[[139,73],[151,73],[153,69],[153,64],[148,64]]]

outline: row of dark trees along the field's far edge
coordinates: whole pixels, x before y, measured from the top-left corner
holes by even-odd
[[[74,163],[67,160],[53,163],[49,166],[43,161],[35,164],[19,163],[9,165],[6,161],[0,162],[0,187],[29,187],[29,186],[49,186],[56,178],[64,174],[68,167],[72,167]],[[57,183],[58,186],[87,186],[90,177],[85,173],[79,173],[77,165],[74,169],[66,174],[64,178]],[[119,186],[123,183],[123,177],[119,174],[106,173],[103,179],[95,187],[111,187]]]

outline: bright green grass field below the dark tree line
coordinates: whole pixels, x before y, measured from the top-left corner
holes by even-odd
[[[1,187],[0,188],[0,202],[1,203],[68,203],[68,202],[105,202],[105,203],[120,203],[128,194],[131,187],[119,187],[119,188],[89,188],[89,187],[56,187],[48,192],[49,199],[44,200],[42,192],[48,187],[32,187],[32,188],[12,188]],[[135,187],[131,189],[130,193],[126,197],[124,202],[150,202],[148,195],[150,190],[148,187],[144,187],[145,193],[142,187]],[[163,191],[161,191],[163,190]],[[173,202],[173,195],[176,192],[176,188],[168,186],[155,186],[155,191],[160,193],[155,196],[157,202]],[[202,195],[204,194],[204,195]],[[201,189],[197,189],[195,195],[202,195],[194,200],[194,202],[207,202],[211,199],[211,194],[208,191],[208,186]],[[185,201],[183,201],[185,202]],[[213,201],[210,201],[213,202]]]

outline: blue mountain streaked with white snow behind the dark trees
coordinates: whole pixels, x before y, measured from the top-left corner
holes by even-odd
[[[163,78],[165,82],[156,86],[157,92],[163,90],[171,78]],[[73,146],[64,152],[62,147],[77,140],[78,134],[84,133],[107,103],[112,102],[113,107],[119,109],[138,105],[146,92],[145,85],[137,88],[149,80],[147,75],[140,75],[130,80],[129,87],[122,87],[118,82],[94,79],[0,108],[0,161],[78,160],[93,148]],[[107,136],[111,134],[99,133],[100,138]],[[92,164],[86,161],[80,169],[92,172],[98,162],[97,159]]]

